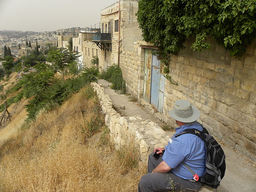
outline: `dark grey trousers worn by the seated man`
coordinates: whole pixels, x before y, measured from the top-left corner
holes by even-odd
[[[160,156],[155,159],[151,153],[148,156],[148,174],[140,179],[138,192],[156,192],[156,191],[198,191],[202,186],[200,182],[191,182],[185,180],[172,172],[152,173],[153,169],[160,164],[163,159]]]

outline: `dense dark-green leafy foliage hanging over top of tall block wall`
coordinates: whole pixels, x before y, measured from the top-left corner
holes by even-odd
[[[256,37],[256,4],[251,0],[141,0],[142,37],[159,47],[159,57],[176,54],[186,38],[193,50],[209,49],[213,37],[231,56],[240,56]]]

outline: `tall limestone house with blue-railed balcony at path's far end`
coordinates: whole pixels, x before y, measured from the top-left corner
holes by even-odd
[[[120,0],[100,12],[100,32],[92,33],[92,39],[84,41],[84,65],[91,65],[92,57],[98,55],[100,71],[108,66],[120,65],[123,26],[136,21],[138,0]],[[86,59],[85,59],[86,58]]]

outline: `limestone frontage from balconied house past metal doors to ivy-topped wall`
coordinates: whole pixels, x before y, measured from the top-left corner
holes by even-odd
[[[201,112],[199,122],[215,138],[256,160],[256,40],[235,58],[214,39],[209,40],[210,50],[193,52],[194,39],[189,39],[184,50],[169,55],[168,75],[178,84],[174,85],[152,54],[157,47],[143,41],[137,10],[138,1],[123,0],[101,11],[101,33],[110,33],[111,39],[85,40],[84,65],[90,67],[95,51],[101,71],[117,63],[127,92],[169,125],[176,126],[168,115],[174,102],[189,100]]]

